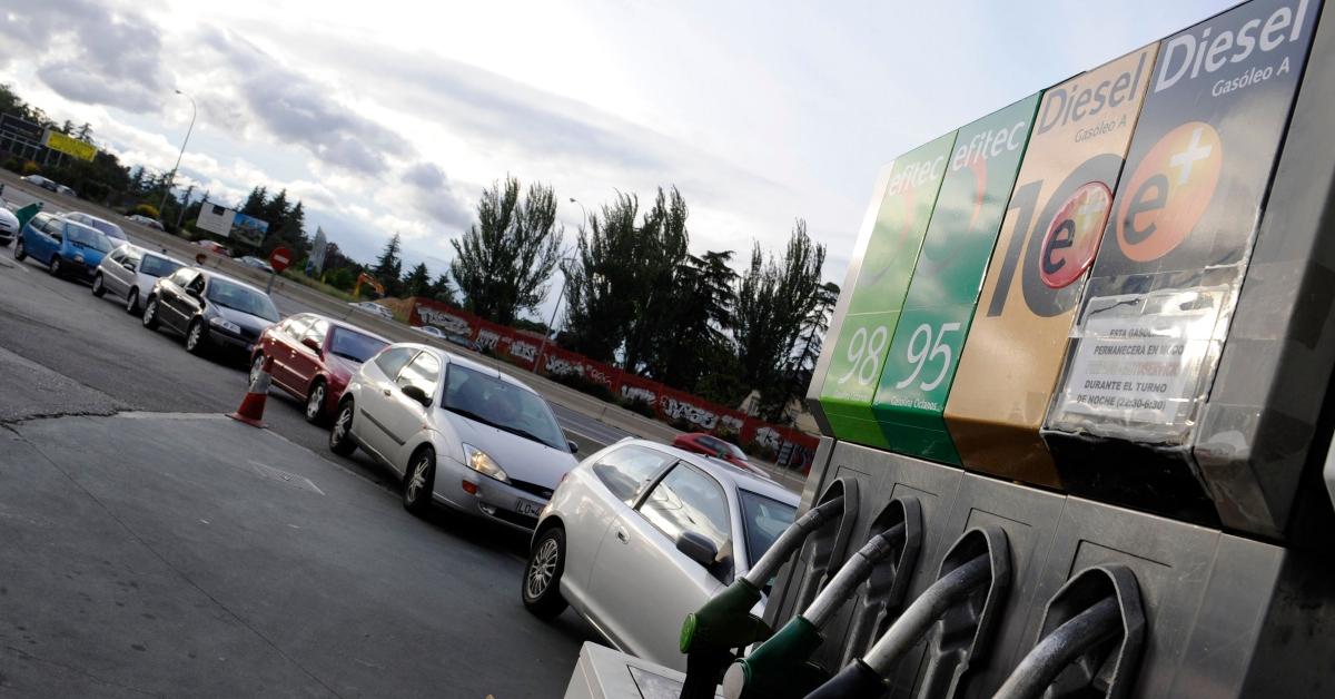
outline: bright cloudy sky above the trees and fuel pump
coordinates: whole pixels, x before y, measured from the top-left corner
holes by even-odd
[[[566,247],[617,192],[676,186],[693,251],[740,266],[801,218],[841,283],[897,154],[1232,4],[5,0],[0,82],[151,171],[192,98],[180,186],[287,188],[363,262],[396,231],[446,271],[513,175],[555,188]]]

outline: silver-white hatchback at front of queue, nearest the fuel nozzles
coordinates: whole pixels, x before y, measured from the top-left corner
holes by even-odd
[[[726,461],[622,440],[571,470],[542,511],[523,604],[545,619],[569,604],[618,650],[685,670],[686,615],[760,560],[797,503]]]

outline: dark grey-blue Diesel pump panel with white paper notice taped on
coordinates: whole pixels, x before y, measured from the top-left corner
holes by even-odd
[[[1254,0],[1163,40],[1044,430],[1053,449],[1076,450],[1063,466],[1075,489],[1097,480],[1188,497],[1157,476],[1172,473],[1204,497],[1188,446],[1319,11]],[[1108,464],[1105,438],[1155,453]]]

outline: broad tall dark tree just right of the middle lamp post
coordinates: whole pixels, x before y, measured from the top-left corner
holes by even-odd
[[[676,187],[658,190],[654,206],[639,218],[639,199],[618,194],[579,229],[575,257],[562,267],[567,315],[563,341],[590,358],[645,369],[665,333],[677,267],[686,259],[686,202]]]

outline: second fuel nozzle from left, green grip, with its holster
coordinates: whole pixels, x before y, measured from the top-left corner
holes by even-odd
[[[826,621],[877,571],[884,571],[882,577],[890,577],[881,580],[881,587],[898,592],[893,600],[880,600],[881,605],[897,607],[902,597],[902,581],[912,577],[922,541],[922,508],[917,499],[890,501],[873,523],[872,532],[866,544],[849,557],[804,612],[728,668],[724,696],[796,699],[829,679],[829,672],[809,658],[825,642],[822,628]]]

